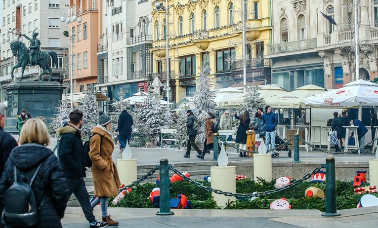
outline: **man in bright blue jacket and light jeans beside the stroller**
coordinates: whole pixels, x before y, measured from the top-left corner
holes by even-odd
[[[265,107],[265,113],[262,114],[262,119],[265,123],[265,137],[266,137],[266,150],[269,150],[269,143],[272,144],[272,148],[276,146],[276,126],[278,124],[278,120],[276,118],[276,114],[272,113],[272,107],[269,105]],[[271,152],[272,154],[274,151]]]

